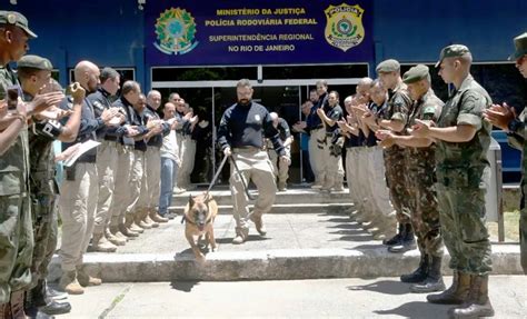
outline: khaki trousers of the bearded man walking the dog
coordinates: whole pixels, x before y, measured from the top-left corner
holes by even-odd
[[[259,149],[235,149],[232,159],[236,161],[246,185],[249,180],[256,185],[258,189],[258,199],[255,202],[252,213],[261,216],[271,210],[276,197],[275,175],[272,173],[272,165],[266,151]],[[249,208],[247,207],[247,196],[243,190],[243,183],[240,175],[230,167],[230,191],[233,202],[233,215],[236,226],[239,229],[249,229]]]

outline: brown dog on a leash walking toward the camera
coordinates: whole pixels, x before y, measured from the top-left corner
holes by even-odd
[[[217,246],[212,226],[217,215],[218,203],[210,193],[189,197],[189,202],[185,207],[185,236],[199,262],[205,261],[205,255],[198,247],[198,242],[203,236],[205,247],[207,248],[210,245],[211,251],[216,251]]]

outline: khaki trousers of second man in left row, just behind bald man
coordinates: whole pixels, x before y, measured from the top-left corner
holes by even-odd
[[[99,179],[99,198],[97,201],[97,212],[93,226],[93,233],[103,233],[110,220],[111,202],[113,200],[113,189],[119,163],[118,142],[101,141],[97,148],[97,173]]]

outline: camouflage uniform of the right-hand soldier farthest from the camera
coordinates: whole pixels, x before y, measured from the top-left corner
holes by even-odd
[[[381,119],[406,121],[411,99],[408,96],[405,83],[398,84],[389,91],[389,100],[386,110],[381,110]],[[410,223],[410,209],[408,207],[408,191],[406,188],[405,152],[398,146],[385,149],[386,183],[390,191],[390,200],[396,210],[399,225]]]

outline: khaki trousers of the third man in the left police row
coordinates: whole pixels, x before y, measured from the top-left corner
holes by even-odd
[[[121,222],[125,222],[123,218],[130,197],[129,182],[131,177],[131,167],[133,163],[133,147],[119,143],[117,147],[117,156],[119,166],[117,167],[111,212],[113,222],[119,218],[121,218]]]

